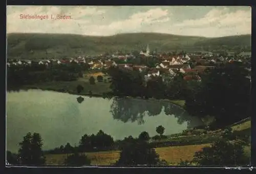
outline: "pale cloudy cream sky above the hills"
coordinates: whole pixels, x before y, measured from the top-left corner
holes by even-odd
[[[48,15],[22,19],[20,15]],[[109,36],[156,32],[222,37],[251,34],[249,6],[7,6],[7,33]],[[71,19],[52,19],[57,15]]]

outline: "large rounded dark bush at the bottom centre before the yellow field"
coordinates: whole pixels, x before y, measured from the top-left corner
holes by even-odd
[[[154,148],[141,140],[130,139],[121,148],[120,158],[117,165],[157,165],[159,155]]]

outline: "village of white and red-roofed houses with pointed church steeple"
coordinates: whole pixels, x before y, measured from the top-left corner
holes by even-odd
[[[225,56],[212,52],[195,52],[185,53],[156,53],[151,52],[147,45],[146,51],[140,51],[138,55],[114,53],[113,55],[105,54],[95,57],[78,56],[76,58],[41,58],[36,60],[15,60],[10,59],[7,66],[46,66],[47,68],[55,65],[68,65],[71,63],[88,64],[91,70],[101,71],[110,67],[118,67],[126,71],[144,72],[145,81],[155,77],[173,78],[178,72],[184,74],[184,80],[201,81],[200,75],[207,69],[214,69],[225,63],[240,62],[246,64],[250,69],[250,52],[227,52]],[[153,65],[148,65],[153,62]]]

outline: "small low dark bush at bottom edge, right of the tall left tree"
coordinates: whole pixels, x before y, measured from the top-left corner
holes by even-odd
[[[90,165],[91,160],[84,154],[79,154],[76,150],[74,154],[67,157],[65,164],[68,166]]]

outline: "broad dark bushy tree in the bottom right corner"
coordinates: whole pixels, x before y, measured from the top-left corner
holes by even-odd
[[[244,155],[242,141],[219,140],[197,151],[192,162],[199,165],[246,165],[250,159]]]

